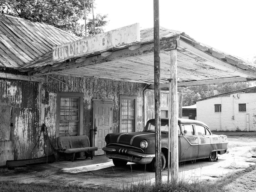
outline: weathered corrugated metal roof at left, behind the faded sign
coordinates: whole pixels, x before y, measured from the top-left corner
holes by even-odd
[[[78,40],[54,26],[0,15],[0,67],[19,69],[52,52],[55,45]]]

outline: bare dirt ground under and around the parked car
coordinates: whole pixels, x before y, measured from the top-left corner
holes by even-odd
[[[255,137],[228,137],[228,152],[218,156],[218,162],[197,160],[179,166],[180,180],[189,182],[214,180],[227,173],[236,172],[256,163],[250,149],[256,147]],[[112,160],[104,155],[93,160],[58,161],[40,166],[20,167],[14,170],[0,169],[0,181],[13,180],[17,183],[78,184],[88,187],[126,187],[131,183],[154,183],[155,173],[145,171],[145,166],[128,164],[124,168],[113,166]],[[162,172],[167,180],[167,168]]]

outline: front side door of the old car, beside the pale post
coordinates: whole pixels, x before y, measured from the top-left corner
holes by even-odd
[[[180,161],[192,160],[198,157],[198,137],[195,135],[194,125],[181,125]],[[184,131],[186,133],[184,133]]]

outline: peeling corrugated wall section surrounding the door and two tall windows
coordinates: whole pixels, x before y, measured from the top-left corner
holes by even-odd
[[[83,77],[54,76],[64,81],[47,77],[45,118],[47,127],[55,130],[55,109],[57,92],[84,93],[84,122],[83,133],[90,136],[90,129],[93,126],[93,99],[113,100],[113,133],[119,132],[119,95],[137,96],[138,107],[138,130],[143,130],[143,87],[141,83],[125,81],[113,81],[110,79],[93,79]],[[47,98],[48,97],[48,98]]]

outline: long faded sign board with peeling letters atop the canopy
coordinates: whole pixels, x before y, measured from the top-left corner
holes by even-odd
[[[140,25],[135,23],[67,44],[53,47],[53,61],[61,61],[88,53],[102,51],[140,41]]]

